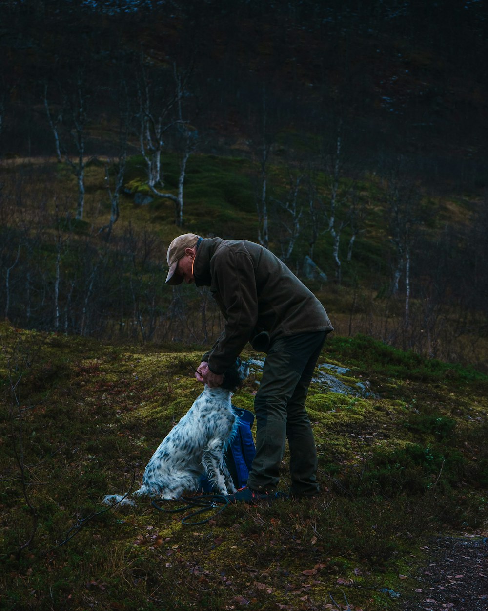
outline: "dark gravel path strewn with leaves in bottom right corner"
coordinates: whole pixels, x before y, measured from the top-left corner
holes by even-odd
[[[403,611],[488,611],[487,537],[446,536],[422,549],[425,564]]]

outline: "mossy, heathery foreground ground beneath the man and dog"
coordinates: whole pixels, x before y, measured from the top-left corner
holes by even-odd
[[[193,527],[145,500],[124,513],[100,501],[138,486],[201,391],[201,349],[6,324],[1,338],[1,609],[394,609],[426,537],[486,524],[488,382],[476,371],[332,339],[321,362],[376,396],[312,385],[323,494]],[[251,376],[234,403],[252,408],[256,387]]]

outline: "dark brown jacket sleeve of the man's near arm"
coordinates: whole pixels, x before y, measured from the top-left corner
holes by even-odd
[[[212,261],[212,288],[226,318],[224,330],[209,354],[209,368],[224,373],[235,364],[257,323],[257,290],[253,260],[245,251],[226,249]]]

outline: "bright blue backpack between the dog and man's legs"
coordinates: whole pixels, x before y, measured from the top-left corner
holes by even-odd
[[[234,405],[232,406],[232,411],[239,419],[239,424],[237,425],[234,439],[232,439],[226,448],[225,461],[234,481],[234,486],[239,490],[248,481],[249,471],[253,464],[254,455],[256,455],[256,447],[254,446],[253,434],[251,433],[254,414],[248,409],[239,409]],[[212,492],[212,486],[206,475],[202,475],[200,478],[200,486],[202,492]]]

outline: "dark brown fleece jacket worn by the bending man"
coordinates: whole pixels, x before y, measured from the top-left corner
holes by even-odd
[[[210,287],[226,319],[224,331],[206,355],[213,373],[234,365],[246,343],[262,331],[273,342],[285,335],[333,329],[312,291],[259,244],[201,240],[193,275],[197,287]]]

